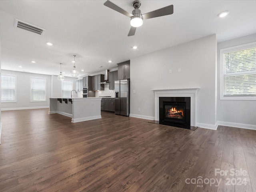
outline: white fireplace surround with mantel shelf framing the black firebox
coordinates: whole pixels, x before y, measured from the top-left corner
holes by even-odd
[[[159,97],[190,97],[190,126],[196,126],[196,99],[199,89],[152,89],[155,93],[155,120],[159,121]]]

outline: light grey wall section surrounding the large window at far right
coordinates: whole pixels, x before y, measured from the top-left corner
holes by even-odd
[[[220,100],[220,49],[256,42],[256,34],[218,43],[218,124],[241,128],[256,129],[254,100]]]

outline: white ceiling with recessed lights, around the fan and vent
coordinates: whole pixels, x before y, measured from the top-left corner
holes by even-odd
[[[79,76],[84,76],[211,34],[221,42],[256,33],[256,0],[141,0],[142,14],[170,4],[174,5],[174,14],[144,20],[130,37],[130,18],[104,6],[104,2],[0,0],[1,68],[58,75],[59,63],[63,63],[62,72],[70,76],[76,55]],[[134,9],[133,0],[112,2],[128,12]],[[217,17],[226,10],[230,12],[226,18]],[[46,32],[40,36],[15,28],[15,19]],[[54,45],[47,46],[46,42]],[[134,45],[137,50],[132,49]]]

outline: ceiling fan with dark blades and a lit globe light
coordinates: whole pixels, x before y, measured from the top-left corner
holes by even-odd
[[[139,10],[141,2],[139,0],[135,0],[132,3],[132,6],[134,7],[132,14],[130,14],[126,10],[120,8],[119,6],[117,6],[116,4],[112,3],[109,0],[107,0],[104,3],[104,5],[131,18],[131,21],[130,21],[131,28],[128,33],[128,36],[133,36],[135,34],[136,28],[143,24],[143,19],[150,19],[150,18],[154,18],[154,17],[160,17],[160,16],[173,14],[173,5],[169,5],[169,6],[166,6],[166,7],[163,7],[163,8],[160,8],[160,9],[157,9],[157,10],[145,13],[145,14],[141,14],[141,12]]]

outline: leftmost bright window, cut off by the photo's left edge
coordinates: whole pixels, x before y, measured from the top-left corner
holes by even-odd
[[[16,76],[1,76],[1,102],[16,102]]]

